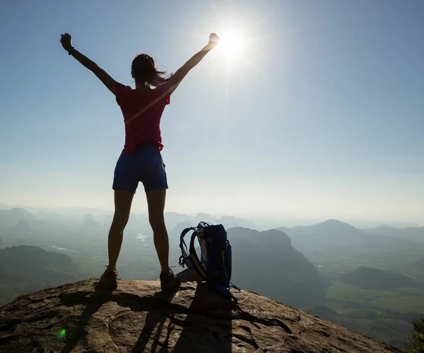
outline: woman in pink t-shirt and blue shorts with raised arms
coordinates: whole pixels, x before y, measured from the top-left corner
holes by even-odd
[[[131,202],[139,182],[143,183],[148,204],[148,219],[153,230],[153,240],[160,262],[160,287],[168,291],[179,285],[179,279],[169,267],[169,241],[165,226],[164,209],[167,190],[165,164],[160,151],[160,118],[170,95],[182,79],[205,55],[218,44],[218,35],[209,36],[208,45],[195,54],[172,76],[158,71],[148,54],[140,54],[131,64],[131,76],[136,88],[124,86],[110,77],[95,62],[72,46],[71,35],[61,35],[61,45],[78,62],[93,71],[100,81],[116,96],[125,122],[125,144],[114,170],[114,217],[110,226],[107,250],[109,265],[100,277],[98,288],[117,288],[117,260],[122,245],[124,228],[129,219]]]

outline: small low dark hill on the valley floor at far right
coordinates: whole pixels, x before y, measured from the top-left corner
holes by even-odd
[[[358,267],[353,272],[342,274],[338,279],[345,284],[352,284],[364,289],[384,290],[417,286],[413,279],[404,274],[364,266]]]

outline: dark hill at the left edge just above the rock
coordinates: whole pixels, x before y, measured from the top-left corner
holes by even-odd
[[[0,249],[0,306],[30,291],[75,282],[78,264],[68,255],[37,246]]]

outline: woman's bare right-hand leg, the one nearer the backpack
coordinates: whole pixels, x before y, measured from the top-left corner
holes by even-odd
[[[153,230],[153,242],[155,243],[156,253],[160,262],[160,268],[163,272],[170,270],[168,257],[170,245],[165,226],[165,197],[166,189],[153,190],[146,192],[148,204],[148,220]]]

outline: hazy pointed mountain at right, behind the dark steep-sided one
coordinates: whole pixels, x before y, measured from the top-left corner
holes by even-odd
[[[312,226],[278,229],[287,233],[293,247],[329,278],[367,266],[404,271],[424,282],[424,276],[409,266],[423,256],[423,243],[408,238],[370,234],[334,219]]]

